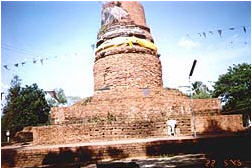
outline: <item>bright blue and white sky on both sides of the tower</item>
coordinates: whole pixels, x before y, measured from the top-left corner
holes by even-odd
[[[188,85],[194,59],[198,62],[192,80],[209,85],[228,66],[251,62],[250,1],[141,3],[161,54],[164,87]],[[63,88],[67,96],[91,96],[91,44],[100,28],[101,5],[95,1],[2,1],[2,91],[18,75],[23,85],[37,83],[43,90]],[[223,30],[222,37],[217,30]]]

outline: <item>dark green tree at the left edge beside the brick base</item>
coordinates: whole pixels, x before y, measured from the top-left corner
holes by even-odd
[[[25,87],[20,84],[21,80],[15,76],[8,90],[1,118],[2,130],[10,130],[12,135],[25,126],[45,124],[50,111],[45,93],[37,84]]]

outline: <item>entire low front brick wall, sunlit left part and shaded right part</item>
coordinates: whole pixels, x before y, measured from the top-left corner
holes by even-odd
[[[249,136],[208,137],[197,139],[163,139],[117,144],[30,146],[2,149],[1,166],[7,167],[82,167],[104,159],[120,160],[128,157],[162,156],[188,153],[213,153],[229,159],[230,154],[240,158],[250,155]],[[226,152],[228,150],[229,152]],[[232,153],[230,153],[232,152]],[[220,155],[221,154],[221,155]],[[232,156],[232,155],[231,155]],[[246,157],[248,160],[250,157]],[[213,158],[210,158],[213,159]],[[220,160],[223,162],[223,160]],[[81,166],[80,166],[81,165]]]

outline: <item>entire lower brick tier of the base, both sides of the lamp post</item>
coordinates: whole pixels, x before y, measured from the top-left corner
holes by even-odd
[[[177,135],[192,135],[191,115],[170,115],[153,120],[99,121],[51,125],[33,128],[34,144],[64,144],[90,141],[166,137],[167,120],[177,120]],[[197,133],[237,132],[243,130],[241,115],[196,116]]]

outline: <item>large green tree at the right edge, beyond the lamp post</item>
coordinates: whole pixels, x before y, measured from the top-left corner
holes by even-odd
[[[230,66],[226,74],[220,75],[214,85],[214,97],[220,97],[225,103],[223,112],[241,113],[251,116],[251,65],[238,64]]]

